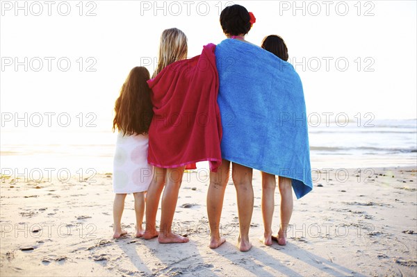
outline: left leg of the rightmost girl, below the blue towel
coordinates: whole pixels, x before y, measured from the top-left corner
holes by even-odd
[[[275,205],[275,175],[261,172],[262,174],[262,217],[263,217],[263,244],[272,245],[272,216]]]

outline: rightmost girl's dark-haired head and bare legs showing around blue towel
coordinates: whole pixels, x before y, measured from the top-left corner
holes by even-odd
[[[268,35],[262,42],[263,49],[270,51],[281,60],[288,60],[288,49],[284,40],[279,35]],[[271,245],[276,240],[279,245],[286,245],[286,231],[293,213],[293,187],[291,179],[278,176],[279,194],[281,194],[281,224],[277,237],[272,235],[272,215],[274,214],[275,175],[261,172],[262,174],[262,217],[263,217],[263,243]]]

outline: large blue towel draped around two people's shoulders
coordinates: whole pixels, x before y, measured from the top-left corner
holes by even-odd
[[[292,179],[297,199],[311,192],[306,105],[294,67],[254,44],[215,49],[222,158]]]

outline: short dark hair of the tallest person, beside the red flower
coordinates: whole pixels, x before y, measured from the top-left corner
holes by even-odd
[[[251,28],[249,12],[240,5],[228,6],[220,14],[220,24],[225,35],[246,35]]]

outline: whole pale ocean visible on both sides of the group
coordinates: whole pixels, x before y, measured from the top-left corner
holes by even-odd
[[[111,172],[116,140],[111,121],[74,125],[1,128],[1,174],[71,172],[88,178]],[[417,167],[417,119],[309,123],[309,140],[313,169]]]

